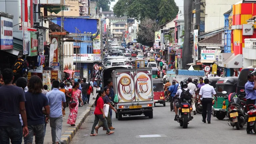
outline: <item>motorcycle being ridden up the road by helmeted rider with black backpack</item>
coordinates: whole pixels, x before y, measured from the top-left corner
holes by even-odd
[[[184,102],[186,101],[186,102]],[[193,116],[190,115],[190,111],[192,110],[191,105],[189,104],[191,100],[185,100],[183,99],[183,102],[181,103],[179,110],[178,110],[178,116],[177,118],[177,122],[180,123],[180,126],[182,126],[183,128],[187,128],[188,127],[188,122],[190,120],[193,119]]]

